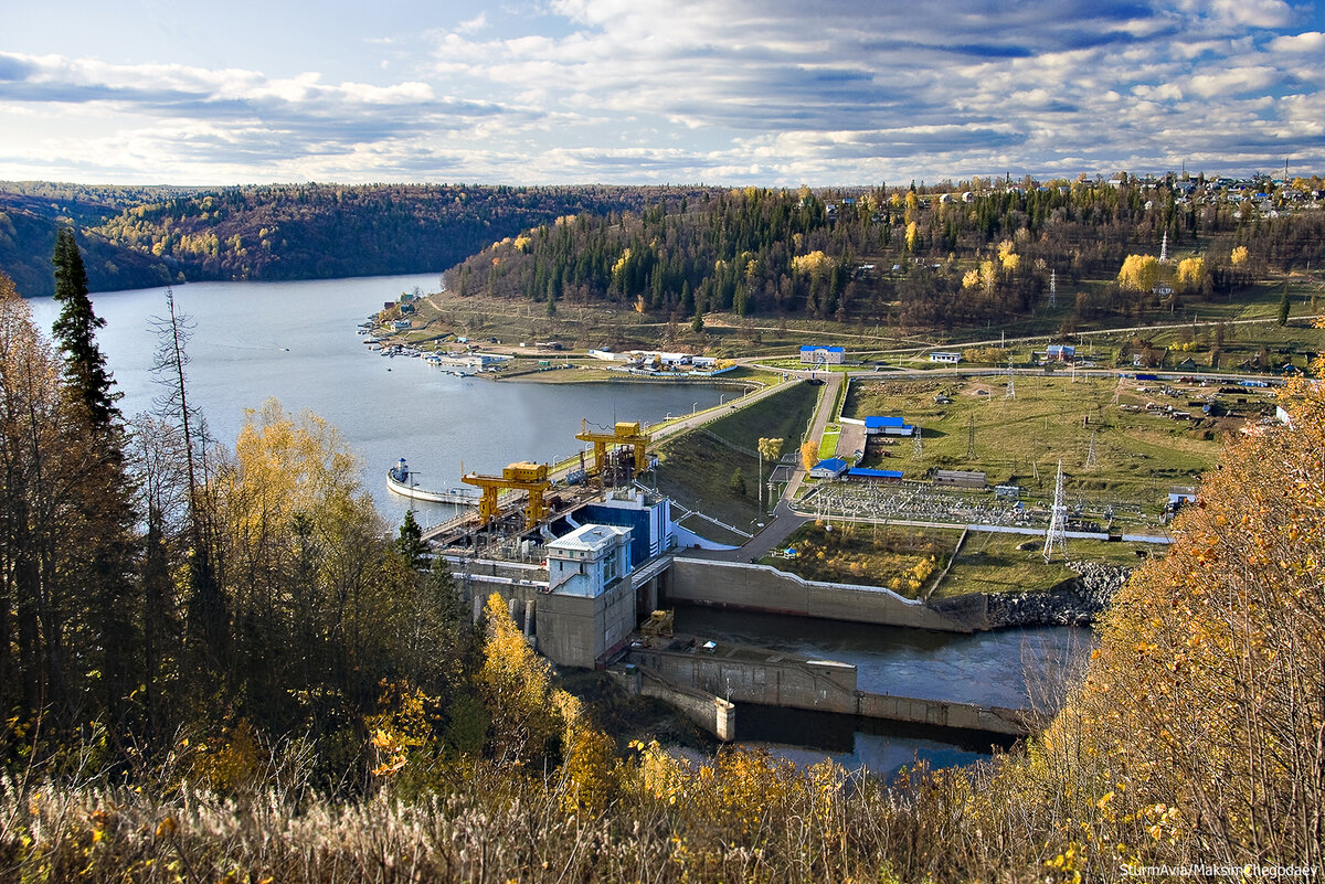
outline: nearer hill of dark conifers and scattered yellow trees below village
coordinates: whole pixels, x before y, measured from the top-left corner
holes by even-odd
[[[1231,259],[1236,245],[1275,270],[1325,257],[1325,213],[1310,183],[1267,183],[1259,201],[1196,180],[969,187],[673,197],[641,213],[541,225],[449,270],[448,287],[551,307],[617,302],[673,319],[734,311],[950,326],[1034,310],[1051,274],[1071,306],[1069,286],[1114,279],[1128,254],[1158,255],[1166,234],[1171,257],[1202,253],[1179,299],[1248,282],[1249,269]],[[1077,312],[1173,308],[1153,295],[1149,286],[1093,286]]]

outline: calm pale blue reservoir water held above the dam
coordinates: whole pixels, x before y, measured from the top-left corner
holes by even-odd
[[[448,488],[460,484],[462,468],[493,472],[513,461],[575,453],[580,418],[651,422],[730,394],[700,385],[496,384],[371,352],[355,326],[415,286],[435,290],[437,277],[178,286],[176,308],[196,323],[189,394],[212,434],[232,445],[244,409],[270,397],[292,413],[319,414],[360,457],[363,484],[378,508],[399,521],[408,503],[383,484],[398,458],[409,461],[421,487]],[[166,312],[164,288],[103,292],[93,303],[106,320],[98,340],[125,393],[121,410],[151,410],[160,394],[150,371],[156,347],[151,318]],[[49,330],[58,306],[46,298],[32,307]],[[415,508],[425,524],[453,512],[441,504]]]

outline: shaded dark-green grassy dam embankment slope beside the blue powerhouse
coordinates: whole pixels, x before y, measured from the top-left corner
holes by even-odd
[[[766,400],[664,443],[659,453],[659,490],[688,509],[750,531],[750,523],[759,520],[759,438],[786,439],[783,453],[795,451],[820,389],[788,384]],[[772,464],[766,462],[763,467],[767,476]],[[737,470],[745,480],[745,494],[733,488]],[[768,503],[766,498],[765,504]],[[705,537],[730,543],[730,536],[716,536],[713,527],[701,519],[685,525]]]

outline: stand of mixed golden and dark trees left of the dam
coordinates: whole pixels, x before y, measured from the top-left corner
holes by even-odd
[[[306,773],[352,794],[380,761],[374,729],[419,704],[480,749],[469,611],[417,524],[391,539],[354,457],[311,416],[269,402],[233,450],[211,441],[174,308],[162,412],[126,421],[68,229],[56,267],[54,347],[0,274],[4,765],[48,770],[91,746],[129,777],[184,740],[187,775],[220,786],[272,741],[307,738]]]

